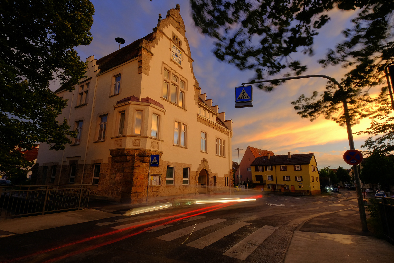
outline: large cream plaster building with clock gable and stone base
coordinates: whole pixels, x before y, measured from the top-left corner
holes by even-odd
[[[185,32],[177,5],[151,34],[87,58],[75,90],[56,91],[68,100],[59,121],[78,138],[64,151],[42,144],[37,184],[56,166],[45,184],[93,184],[91,194],[125,202],[145,201],[148,183],[150,201],[230,191],[232,121],[201,93]]]

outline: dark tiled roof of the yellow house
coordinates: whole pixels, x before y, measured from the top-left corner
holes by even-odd
[[[312,160],[313,153],[292,154],[288,159],[288,155],[274,155],[257,157],[250,165],[293,165],[293,164],[309,164]]]

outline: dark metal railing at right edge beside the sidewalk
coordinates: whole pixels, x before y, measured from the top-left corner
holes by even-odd
[[[390,204],[391,203],[391,204]],[[394,242],[394,198],[382,197],[378,202],[383,234]]]

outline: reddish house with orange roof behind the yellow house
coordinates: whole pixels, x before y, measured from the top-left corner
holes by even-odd
[[[267,156],[267,155],[273,156],[274,153],[272,151],[267,151],[267,150],[262,150],[258,149],[255,147],[248,146],[246,148],[245,154],[242,157],[242,160],[240,162],[239,167],[237,168],[237,171],[235,173],[235,182],[238,183],[239,180],[241,181],[246,181],[246,178],[249,179],[249,181],[252,180],[252,168],[250,164],[256,159],[256,157],[261,157],[261,156]],[[241,175],[242,177],[239,178],[238,175]]]

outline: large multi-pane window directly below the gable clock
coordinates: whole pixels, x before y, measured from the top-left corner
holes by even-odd
[[[184,108],[186,81],[169,69],[164,69],[163,75],[163,98]]]

